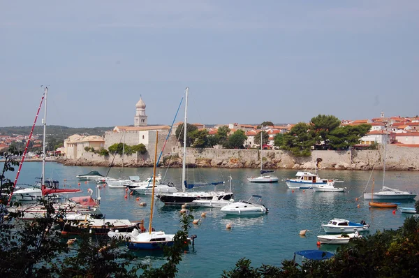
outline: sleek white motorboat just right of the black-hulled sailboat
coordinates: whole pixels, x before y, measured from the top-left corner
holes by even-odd
[[[252,195],[249,200],[239,200],[235,203],[230,203],[224,207],[221,207],[221,212],[226,214],[234,215],[257,215],[266,214],[268,212],[265,205],[260,203],[262,196]]]

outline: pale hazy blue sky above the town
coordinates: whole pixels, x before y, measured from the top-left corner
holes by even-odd
[[[0,1],[0,126],[419,114],[419,1]],[[183,108],[177,122],[183,119]],[[42,117],[42,116],[40,116]],[[41,124],[41,121],[38,122]]]

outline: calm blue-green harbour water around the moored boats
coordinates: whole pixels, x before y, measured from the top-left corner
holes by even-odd
[[[16,169],[17,170],[17,169]],[[62,166],[58,163],[47,163],[45,176],[60,180],[61,186],[78,186],[75,175],[98,170],[105,175],[108,168]],[[165,180],[180,184],[181,169],[159,169],[166,175]],[[280,178],[293,177],[295,170],[277,170],[274,174]],[[15,173],[8,173],[12,180]],[[324,234],[320,230],[321,221],[334,217],[353,221],[365,220],[372,226],[372,232],[383,229],[395,229],[402,226],[406,216],[399,212],[392,214],[391,209],[369,209],[367,201],[355,198],[362,195],[370,171],[322,170],[321,177],[344,180],[337,186],[346,186],[347,193],[320,193],[312,190],[294,191],[286,189],[285,182],[278,184],[251,184],[246,176],[258,175],[258,169],[208,169],[195,168],[187,172],[189,182],[226,181],[233,177],[233,192],[235,199],[247,200],[252,194],[263,196],[263,202],[269,208],[269,214],[260,217],[226,217],[219,209],[191,208],[191,214],[197,219],[202,212],[207,217],[201,219],[198,226],[193,226],[190,233],[198,235],[195,247],[184,254],[179,265],[179,277],[219,277],[223,270],[230,270],[242,257],[251,259],[253,266],[262,263],[281,265],[284,259],[293,258],[293,252],[302,249],[317,249],[316,235]],[[33,184],[35,177],[41,175],[41,163],[24,163],[19,184]],[[121,170],[112,168],[112,177],[120,177]],[[152,168],[124,168],[123,175],[140,175],[142,178],[152,175]],[[382,173],[374,171],[372,177],[376,180],[376,189],[381,188]],[[64,180],[66,180],[64,182]],[[386,184],[397,189],[407,189],[419,192],[419,173],[386,172]],[[87,194],[87,189],[94,189],[94,182],[80,184]],[[223,186],[219,187],[221,189]],[[371,182],[367,188],[371,191]],[[109,189],[101,187],[101,210],[107,218],[124,218],[130,220],[145,219],[148,225],[149,202],[151,197],[141,197],[147,203],[140,207],[137,196],[124,198],[124,189]],[[358,204],[360,207],[358,208]],[[414,201],[404,203],[413,207]],[[153,226],[166,233],[179,230],[180,207],[165,206],[156,200]],[[226,224],[232,222],[233,229],[226,230]],[[306,237],[300,237],[299,232],[309,229]],[[335,251],[336,247],[323,245],[323,250]],[[159,252],[136,251],[135,254],[144,262],[160,265],[163,258]]]

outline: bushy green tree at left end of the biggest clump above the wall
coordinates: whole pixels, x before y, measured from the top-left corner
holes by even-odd
[[[311,147],[314,145],[314,138],[309,132],[310,126],[305,123],[298,123],[291,131],[284,133],[283,149],[291,150],[294,156],[309,156]]]

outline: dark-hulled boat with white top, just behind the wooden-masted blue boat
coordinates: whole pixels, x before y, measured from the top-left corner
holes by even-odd
[[[65,214],[57,221],[62,235],[107,235],[111,230],[131,232],[140,227],[139,222],[131,222],[128,219],[96,219],[90,214]]]

